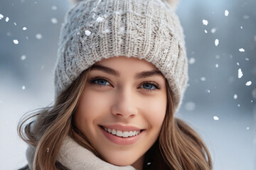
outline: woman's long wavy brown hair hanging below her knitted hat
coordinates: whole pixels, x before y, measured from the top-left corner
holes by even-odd
[[[57,157],[67,135],[100,157],[87,137],[82,135],[73,123],[73,113],[89,71],[90,68],[82,72],[78,79],[56,98],[53,106],[34,111],[33,115],[24,116],[18,123],[18,135],[28,145],[36,148],[33,169],[65,170],[66,168],[57,162]],[[143,169],[212,169],[210,153],[201,137],[182,120],[174,118],[176,108],[168,81],[166,87],[168,105],[164,123],[159,139],[145,154]]]

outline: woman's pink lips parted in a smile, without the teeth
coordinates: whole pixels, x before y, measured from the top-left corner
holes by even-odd
[[[105,128],[110,128],[113,126],[104,126]],[[115,128],[113,129],[117,129],[117,130],[121,130],[120,127],[122,127],[124,131],[128,131],[128,130],[140,130],[138,128],[134,128],[132,126],[118,126],[119,128],[117,128],[117,125],[114,125]],[[135,142],[137,142],[139,140],[140,137],[142,137],[142,135],[144,134],[145,130],[142,130],[139,135],[133,136],[133,137],[118,137],[117,135],[112,135],[109,132],[106,132],[105,130],[102,129],[102,126],[99,126],[100,130],[102,131],[103,135],[105,135],[105,137],[107,137],[108,140],[110,140],[111,142],[113,142],[114,144],[117,145],[132,145]],[[132,129],[131,129],[132,128]]]

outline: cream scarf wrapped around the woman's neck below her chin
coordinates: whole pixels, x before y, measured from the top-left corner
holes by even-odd
[[[26,150],[26,158],[28,160],[29,169],[32,170],[33,155],[35,149],[28,146]],[[120,155],[122,157],[122,155]],[[132,166],[115,166],[109,164],[102,159],[96,157],[92,152],[80,146],[71,137],[66,137],[63,145],[60,147],[58,162],[71,170],[135,170]]]

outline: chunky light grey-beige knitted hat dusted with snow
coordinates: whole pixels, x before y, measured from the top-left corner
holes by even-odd
[[[154,64],[166,77],[178,108],[188,64],[183,29],[170,4],[167,0],[87,0],[71,8],[60,31],[55,97],[95,62],[137,57]]]

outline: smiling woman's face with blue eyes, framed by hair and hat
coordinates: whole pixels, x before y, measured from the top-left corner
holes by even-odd
[[[141,168],[159,137],[166,106],[165,78],[153,64],[111,57],[88,73],[75,124],[105,161]]]

